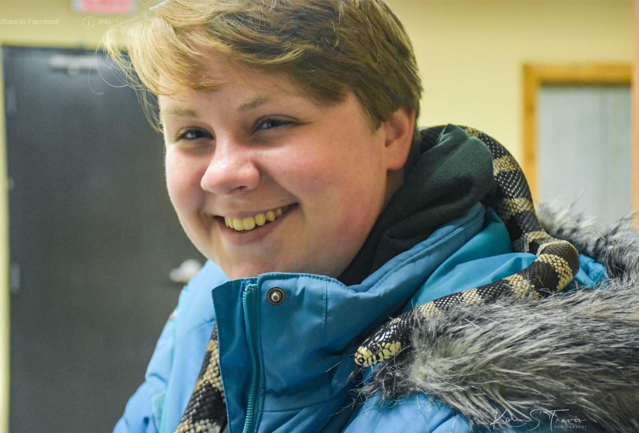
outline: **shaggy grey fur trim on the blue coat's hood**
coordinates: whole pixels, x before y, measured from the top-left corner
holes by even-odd
[[[580,431],[639,431],[639,232],[633,217],[604,228],[541,206],[557,238],[601,262],[610,278],[595,290],[541,301],[502,299],[456,307],[423,321],[414,352],[377,368],[364,395],[387,402],[432,395],[473,427],[561,422]],[[533,430],[534,431],[534,430]]]

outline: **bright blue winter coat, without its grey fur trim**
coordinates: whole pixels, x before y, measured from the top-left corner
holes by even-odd
[[[245,427],[251,432],[468,432],[464,416],[428,395],[408,395],[392,407],[376,397],[353,404],[347,383],[352,354],[401,306],[494,282],[534,258],[513,253],[504,224],[477,204],[349,287],[334,278],[291,273],[228,281],[207,262],[181,293],[146,380],[114,432],[174,431],[214,321],[231,433]],[[592,285],[605,274],[601,264],[581,256],[578,282]],[[265,298],[275,286],[286,292],[277,306]],[[249,399],[255,402],[252,413],[247,413]]]

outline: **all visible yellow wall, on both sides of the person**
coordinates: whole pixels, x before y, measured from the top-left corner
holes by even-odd
[[[523,63],[630,63],[633,57],[630,0],[389,0],[389,4],[410,33],[422,71],[420,125],[460,123],[481,128],[504,142],[516,158],[521,156]],[[72,11],[70,0],[0,0],[0,20],[26,20],[24,24],[0,21],[0,43],[95,48],[109,18],[87,16]],[[0,112],[4,112],[1,95]],[[4,116],[0,132],[1,432],[8,431],[9,365]]]

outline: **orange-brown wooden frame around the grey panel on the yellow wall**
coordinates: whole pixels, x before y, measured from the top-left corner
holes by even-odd
[[[537,95],[544,84],[613,86],[631,85],[630,63],[526,64],[523,65],[523,171],[526,173],[532,197],[537,199]],[[635,130],[637,126],[633,126]],[[636,134],[639,135],[639,134]],[[639,144],[632,141],[631,194],[633,209],[639,210]]]

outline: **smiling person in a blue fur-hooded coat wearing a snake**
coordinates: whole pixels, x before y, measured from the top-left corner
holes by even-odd
[[[107,50],[158,96],[169,196],[210,260],[116,432],[509,431],[556,428],[559,415],[637,425],[619,415],[636,388],[613,368],[636,375],[635,323],[618,311],[627,302],[601,295],[619,291],[454,308],[418,321],[403,361],[353,374],[357,347],[389,317],[535,261],[486,205],[497,144],[416,128],[419,73],[385,3],[167,0],[123,30],[128,57],[117,29]],[[606,280],[584,255],[574,271],[581,285]],[[615,349],[599,344],[612,310]]]

